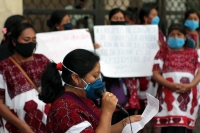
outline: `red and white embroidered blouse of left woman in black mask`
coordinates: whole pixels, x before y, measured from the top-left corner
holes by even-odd
[[[21,63],[20,66],[39,87],[41,75],[49,60],[40,54],[33,56],[33,61]],[[45,133],[49,105],[38,99],[38,92],[9,59],[0,63],[0,98],[5,99],[5,105],[11,112],[26,122],[34,132]],[[19,130],[2,118],[0,119],[0,132],[18,133]]]

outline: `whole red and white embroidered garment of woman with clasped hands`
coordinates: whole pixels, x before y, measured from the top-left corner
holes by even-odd
[[[195,72],[200,67],[195,50],[184,48],[183,51],[158,51],[153,70],[160,70],[162,76],[173,83],[188,84],[192,82]],[[183,126],[193,129],[198,111],[197,86],[185,93],[172,92],[169,88],[158,88],[160,101],[159,113],[154,118],[157,127]]]

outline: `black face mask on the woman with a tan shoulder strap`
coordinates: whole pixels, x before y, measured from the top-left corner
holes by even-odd
[[[18,54],[23,57],[30,57],[33,54],[34,49],[36,48],[36,43],[19,43],[16,42],[15,50]]]

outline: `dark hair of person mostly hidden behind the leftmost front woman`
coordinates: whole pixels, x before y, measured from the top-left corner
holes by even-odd
[[[11,31],[11,29],[13,27],[15,27],[16,25],[22,23],[24,20],[27,20],[24,16],[22,15],[12,15],[10,17],[8,17],[4,23],[4,28],[6,28],[7,33],[4,34],[5,40],[2,40],[1,44],[4,43],[7,39],[7,35],[9,34],[9,32]]]

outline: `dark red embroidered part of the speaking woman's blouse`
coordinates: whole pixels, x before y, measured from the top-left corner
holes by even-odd
[[[84,99],[84,102],[87,104],[87,106],[93,109],[97,116],[100,116],[99,109],[92,101]],[[48,113],[46,132],[66,132],[70,127],[83,121],[88,121],[91,123],[92,128],[89,128],[89,133],[95,131],[98,121],[94,119],[94,117],[89,114],[85,108],[69,98],[59,98],[51,104],[51,108]],[[87,133],[87,130],[85,129],[84,132]]]

